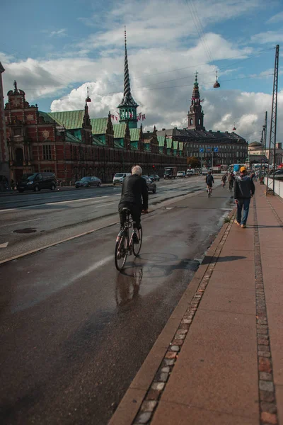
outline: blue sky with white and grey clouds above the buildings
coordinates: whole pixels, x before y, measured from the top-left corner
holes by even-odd
[[[187,126],[197,71],[205,128],[235,126],[248,142],[260,140],[265,111],[270,123],[275,46],[283,45],[282,0],[2,0],[4,94],[16,79],[40,111],[71,111],[83,109],[89,87],[91,118],[115,114],[123,93],[124,26],[144,130]],[[282,57],[283,51],[278,142]]]

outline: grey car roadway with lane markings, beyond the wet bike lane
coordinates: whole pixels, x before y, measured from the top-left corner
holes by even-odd
[[[219,182],[218,182],[219,183]],[[204,178],[159,181],[149,208],[204,188]],[[0,261],[115,222],[121,187],[42,191],[0,197]]]

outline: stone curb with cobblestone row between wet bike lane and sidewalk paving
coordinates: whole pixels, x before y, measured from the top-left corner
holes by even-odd
[[[158,404],[158,398],[163,392],[173,365],[178,358],[178,352],[190,328],[197,306],[207,283],[209,283],[210,276],[216,264],[215,259],[218,258],[222,249],[222,239],[224,239],[224,242],[226,241],[226,237],[233,225],[233,221],[231,220],[235,211],[236,208],[233,208],[229,214],[230,222],[224,223],[219,234],[208,249],[206,256],[204,256],[204,259],[210,258],[211,261],[207,264],[202,261],[202,264],[197,269],[190,284],[188,284],[185,293],[183,293],[171,317],[168,319],[167,324],[161,331],[158,339],[156,339],[148,356],[146,356],[137,375],[129,385],[127,392],[112,415],[108,425],[150,424],[154,409]],[[176,338],[176,332],[180,338],[178,340]],[[172,341],[174,344],[176,341],[181,342],[177,346],[177,343],[173,345]],[[161,380],[161,375],[164,375],[162,377],[164,378],[163,380]],[[158,382],[154,382],[156,376],[160,377]],[[139,414],[138,417],[137,414]]]

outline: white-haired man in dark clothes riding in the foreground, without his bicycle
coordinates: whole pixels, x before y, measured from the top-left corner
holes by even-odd
[[[141,177],[142,169],[139,165],[132,167],[132,176],[127,176],[122,183],[122,194],[119,203],[120,224],[124,227],[126,214],[123,208],[131,211],[134,227],[133,242],[139,243],[137,229],[141,225],[141,212],[148,212],[149,193],[146,181]]]

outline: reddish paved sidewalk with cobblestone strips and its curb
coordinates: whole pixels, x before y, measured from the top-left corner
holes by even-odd
[[[256,183],[224,225],[110,425],[283,425],[283,202]]]

